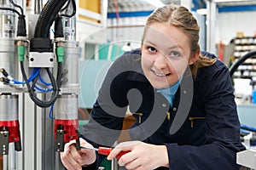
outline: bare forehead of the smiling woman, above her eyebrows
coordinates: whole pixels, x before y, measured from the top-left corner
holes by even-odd
[[[178,46],[189,48],[189,37],[179,28],[167,23],[153,23],[146,28],[144,43],[152,42],[159,47]]]

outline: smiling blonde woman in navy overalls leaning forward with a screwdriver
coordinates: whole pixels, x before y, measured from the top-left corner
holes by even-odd
[[[187,8],[167,5],[148,17],[140,49],[119,57],[108,71],[84,125],[83,146],[112,146],[129,107],[137,122],[131,141],[118,144],[119,166],[151,169],[238,169],[244,150],[228,68],[201,52],[200,28]],[[103,156],[65,145],[67,169],[96,169]],[[85,166],[84,166],[85,165]]]

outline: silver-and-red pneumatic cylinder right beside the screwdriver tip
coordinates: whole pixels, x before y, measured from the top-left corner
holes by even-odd
[[[55,151],[64,151],[64,144],[79,142],[78,95],[62,94],[55,101]],[[79,144],[77,144],[79,146]]]

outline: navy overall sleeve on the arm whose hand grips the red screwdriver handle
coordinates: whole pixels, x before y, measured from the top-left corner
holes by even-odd
[[[240,122],[229,71],[225,66],[212,69],[203,81],[206,82],[201,90],[207,115],[205,144],[166,144],[170,169],[239,169],[236,152],[245,148],[240,141]]]

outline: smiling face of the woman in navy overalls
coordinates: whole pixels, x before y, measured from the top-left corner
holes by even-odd
[[[194,62],[190,58],[189,37],[183,31],[166,22],[148,26],[142,45],[142,67],[154,88],[169,88]]]

